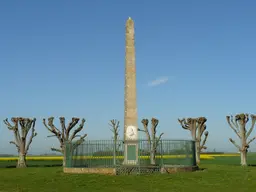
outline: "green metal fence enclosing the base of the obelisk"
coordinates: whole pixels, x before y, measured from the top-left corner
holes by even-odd
[[[137,145],[136,166],[196,166],[195,142],[191,140],[160,140],[152,151],[147,140],[133,141]],[[75,146],[66,144],[66,167],[117,168],[124,166],[125,145],[121,140],[87,140]]]

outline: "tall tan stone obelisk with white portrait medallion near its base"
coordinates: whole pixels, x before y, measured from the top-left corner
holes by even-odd
[[[125,26],[124,164],[137,164],[138,162],[138,115],[134,34],[134,22],[129,17]]]

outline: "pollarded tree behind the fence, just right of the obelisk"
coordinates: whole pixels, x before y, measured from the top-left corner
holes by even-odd
[[[148,119],[142,119],[141,123],[143,124],[144,130],[138,129],[138,131],[142,131],[142,132],[146,133],[148,146],[150,148],[150,164],[155,165],[156,164],[157,147],[158,147],[159,141],[164,133],[161,133],[158,137],[156,136],[156,130],[157,130],[157,126],[159,123],[158,119],[156,119],[156,118],[151,119],[151,134],[148,130],[148,123],[149,123]]]

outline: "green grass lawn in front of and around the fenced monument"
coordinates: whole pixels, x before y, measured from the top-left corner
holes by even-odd
[[[0,192],[246,192],[256,189],[256,167],[239,166],[239,157],[203,160],[203,171],[170,175],[104,176],[64,174],[61,167],[1,168]],[[29,162],[28,162],[29,163]],[[31,164],[32,162],[30,162]],[[33,162],[45,166],[53,162]],[[249,163],[256,163],[250,158]],[[32,164],[31,164],[32,165]]]

